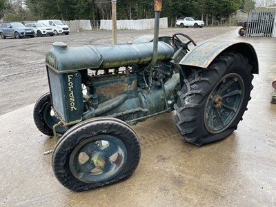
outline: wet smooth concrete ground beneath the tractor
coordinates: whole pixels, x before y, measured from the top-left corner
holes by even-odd
[[[252,43],[259,75],[232,135],[199,148],[181,139],[173,113],[149,119],[134,127],[141,141],[135,173],[75,193],[59,184],[51,155],[43,155],[54,143],[34,126],[32,104],[0,116],[0,206],[276,206],[276,105],[270,103],[276,39],[239,37],[237,30],[216,39]]]

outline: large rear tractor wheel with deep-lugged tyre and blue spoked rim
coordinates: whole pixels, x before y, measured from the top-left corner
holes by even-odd
[[[201,146],[237,129],[253,89],[251,69],[240,53],[224,52],[207,69],[192,70],[175,104],[177,128],[186,141]]]

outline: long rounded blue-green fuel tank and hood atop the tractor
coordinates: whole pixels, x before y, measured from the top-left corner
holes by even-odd
[[[54,43],[46,55],[46,64],[58,73],[83,69],[116,68],[132,64],[149,63],[152,60],[153,43],[121,44],[112,46],[81,46],[69,48],[65,43]],[[158,43],[157,60],[170,59],[173,48]]]

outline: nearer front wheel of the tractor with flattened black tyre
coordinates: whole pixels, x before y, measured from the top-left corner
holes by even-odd
[[[82,191],[113,184],[130,177],[139,164],[136,133],[119,119],[99,117],[70,128],[52,155],[59,182]]]

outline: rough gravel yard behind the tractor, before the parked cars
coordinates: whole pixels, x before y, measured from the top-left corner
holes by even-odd
[[[177,32],[183,32],[200,43],[216,37],[217,34],[236,29],[236,27],[168,28],[161,29],[159,36],[172,36]],[[153,34],[153,30],[119,30],[117,43],[126,43],[143,34]],[[0,115],[35,103],[41,95],[48,92],[44,61],[46,52],[52,48],[52,43],[55,41],[63,41],[69,47],[88,44],[110,45],[112,31],[95,30],[53,37],[0,39]]]

